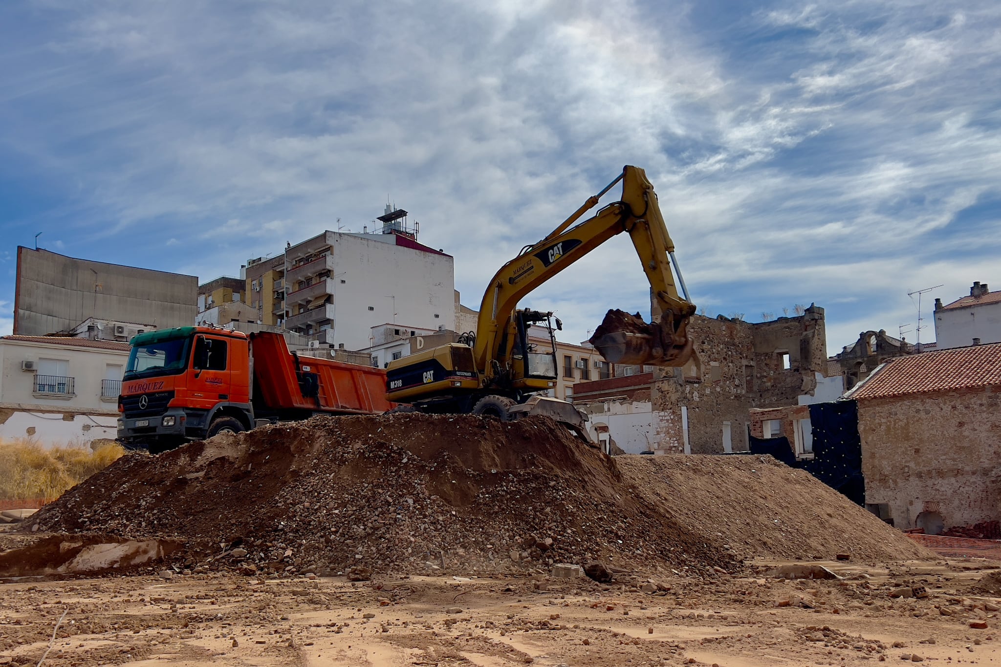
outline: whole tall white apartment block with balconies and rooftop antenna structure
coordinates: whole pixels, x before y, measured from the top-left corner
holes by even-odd
[[[453,260],[418,243],[405,215],[387,211],[381,233],[326,231],[286,248],[285,328],[360,350],[382,323],[454,326]]]

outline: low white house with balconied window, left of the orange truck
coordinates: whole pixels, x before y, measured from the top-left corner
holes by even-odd
[[[0,438],[85,444],[117,435],[128,343],[0,337]]]

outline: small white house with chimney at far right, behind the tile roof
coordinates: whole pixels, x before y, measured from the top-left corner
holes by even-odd
[[[970,295],[942,305],[935,299],[935,349],[1001,342],[1001,292],[974,282]]]

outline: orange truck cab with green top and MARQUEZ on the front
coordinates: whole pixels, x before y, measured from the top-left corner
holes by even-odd
[[[246,334],[178,327],[140,334],[122,378],[118,439],[151,451],[252,428]]]

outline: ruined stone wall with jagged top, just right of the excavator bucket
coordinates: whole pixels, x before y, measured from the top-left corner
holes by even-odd
[[[732,450],[747,451],[750,410],[796,404],[816,387],[815,373],[827,370],[823,308],[760,324],[695,316],[689,336],[693,362],[659,369],[651,391],[654,411],[662,414],[658,449],[666,452],[685,451],[683,407],[693,454],[722,453],[728,422]]]

